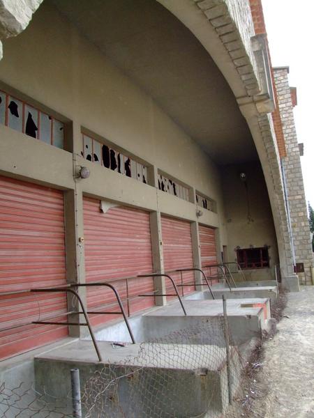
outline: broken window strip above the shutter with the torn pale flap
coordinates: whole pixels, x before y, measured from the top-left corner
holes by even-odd
[[[82,147],[82,157],[87,160],[147,184],[147,167],[141,162],[127,157],[119,150],[102,144],[98,139],[87,134],[82,134]]]

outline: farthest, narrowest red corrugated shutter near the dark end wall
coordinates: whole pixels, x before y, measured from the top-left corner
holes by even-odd
[[[217,264],[215,229],[202,225],[199,225],[198,229],[202,267]],[[216,268],[206,268],[204,272],[209,277],[217,276]],[[213,279],[212,283],[216,283],[216,281],[216,279]]]

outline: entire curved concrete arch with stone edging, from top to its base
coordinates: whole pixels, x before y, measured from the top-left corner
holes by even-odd
[[[187,26],[202,43],[237,98],[241,113],[246,118],[251,130],[267,184],[276,230],[283,286],[290,291],[297,291],[299,281],[293,268],[278,147],[271,118],[267,114],[260,114],[257,110],[258,96],[256,95],[261,93],[261,88],[256,75],[255,58],[251,54],[250,36],[255,34],[253,22],[251,30],[248,27],[246,33],[243,33],[243,30],[241,31],[241,28],[239,29],[237,26],[241,22],[234,20],[237,13],[232,10],[232,7],[240,8],[241,13],[238,15],[244,15],[244,22],[250,22],[251,9],[248,1],[241,0],[237,2],[237,5],[229,4],[228,6],[228,1],[218,5],[212,0],[157,1]],[[247,20],[246,17],[249,19]],[[248,24],[248,26],[250,25]]]

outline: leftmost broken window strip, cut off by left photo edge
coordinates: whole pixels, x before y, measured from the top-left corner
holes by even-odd
[[[0,91],[0,123],[63,148],[64,124],[61,121],[3,91]]]

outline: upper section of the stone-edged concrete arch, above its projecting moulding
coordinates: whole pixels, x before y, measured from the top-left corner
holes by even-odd
[[[200,13],[195,13],[195,7],[190,1],[158,0],[207,49],[230,85],[240,109],[251,106],[251,112],[255,115],[271,112],[274,101],[269,79],[268,52],[264,39],[255,36],[249,1],[193,1]],[[209,23],[207,27],[204,25],[204,17]]]

